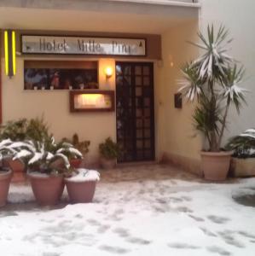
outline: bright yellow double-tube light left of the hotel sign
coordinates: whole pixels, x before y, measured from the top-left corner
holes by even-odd
[[[4,31],[5,74],[9,78],[16,74],[16,39],[12,30]]]

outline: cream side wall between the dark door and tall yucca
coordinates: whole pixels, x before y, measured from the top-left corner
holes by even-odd
[[[180,67],[198,52],[187,40],[195,41],[197,20],[171,28],[162,35],[163,61],[158,83],[159,144],[162,152],[186,158],[200,159],[200,137],[194,138],[192,112],[194,105],[183,100],[183,108],[174,108],[177,79],[182,78]]]

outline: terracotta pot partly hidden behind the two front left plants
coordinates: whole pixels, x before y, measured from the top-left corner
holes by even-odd
[[[11,181],[13,183],[20,183],[26,180],[25,165],[20,160],[6,160],[7,166],[13,171]]]

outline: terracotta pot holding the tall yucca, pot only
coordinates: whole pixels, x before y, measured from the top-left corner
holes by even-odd
[[[233,152],[201,152],[201,167],[204,172],[205,179],[211,181],[223,181],[226,179],[231,154]]]

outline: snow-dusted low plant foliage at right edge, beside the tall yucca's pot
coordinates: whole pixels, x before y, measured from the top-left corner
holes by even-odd
[[[255,157],[255,129],[248,129],[230,138],[225,148],[233,150],[233,156],[237,158]]]

